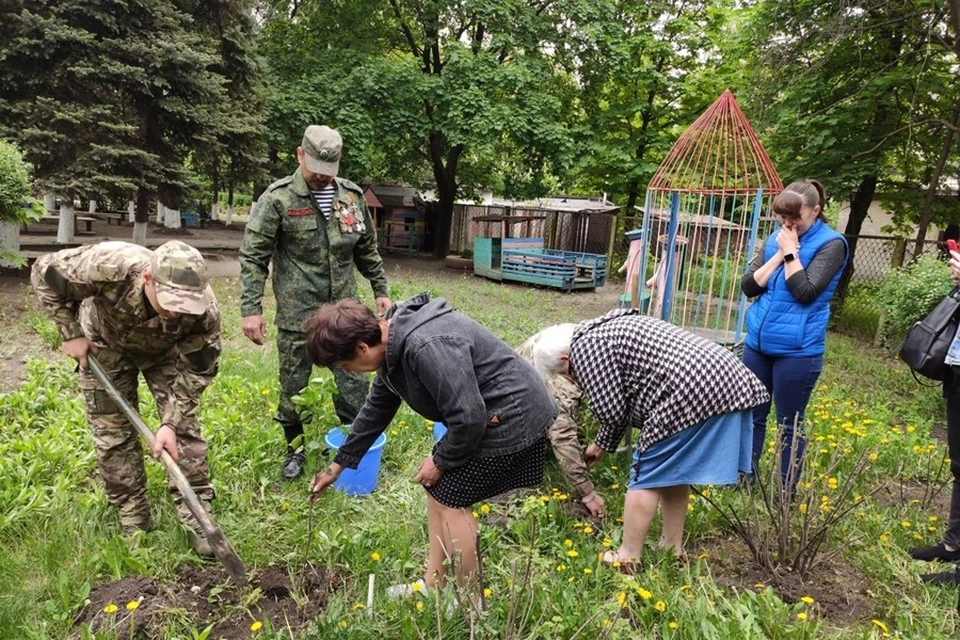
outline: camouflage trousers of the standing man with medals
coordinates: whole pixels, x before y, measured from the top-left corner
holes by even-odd
[[[307,334],[302,331],[277,330],[277,355],[280,360],[280,403],[274,419],[283,426],[290,443],[303,435],[303,423],[293,403],[293,396],[310,384],[313,364],[307,357]],[[351,424],[367,399],[370,377],[366,374],[348,373],[340,368],[333,370],[337,393],[333,407],[343,424]]]

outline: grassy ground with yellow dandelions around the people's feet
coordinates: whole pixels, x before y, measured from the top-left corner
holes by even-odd
[[[548,324],[599,315],[618,293],[562,295],[413,260],[392,264],[395,300],[423,290],[442,295],[510,344]],[[754,521],[756,539],[770,526],[751,515],[749,492],[720,488],[702,488],[706,497],[691,499],[688,565],[656,549],[655,523],[641,572],[621,575],[601,566],[598,552],[619,544],[628,459],[607,456],[594,470],[609,511],[602,522],[574,517],[578,511],[551,461],[539,489],[477,505],[487,608],[470,621],[455,608],[451,613],[444,600],[388,602],[383,596],[386,586],[422,572],[426,501],[411,478],[430,450],[430,425],[401,410],[386,432],[377,491],[363,498],[328,492],[316,504],[309,537],[307,480],[285,484],[278,477],[284,447],[271,422],[276,351],[240,333],[236,280],[217,280],[215,288],[224,355],[203,397],[201,421],[218,492],[214,516],[246,562],[254,588],[238,593],[218,585],[217,566],[193,556],[153,462],[147,464],[156,528],[132,540],[119,537],[72,366],[43,350],[25,366],[20,386],[0,396],[0,638],[956,635],[956,590],[923,585],[918,576],[930,568],[906,554],[938,540],[947,516],[949,488],[935,491],[948,473],[943,401],[938,389],[919,387],[890,354],[845,336],[829,338],[808,414],[808,473],[786,509],[787,538],[794,541],[805,527],[824,525],[818,544],[824,561],[808,575],[756,565],[711,503]],[[21,295],[28,295],[25,288]],[[36,313],[4,319],[11,333],[0,347],[18,339],[11,336],[48,348],[55,341],[51,325]],[[316,373],[303,394],[313,416],[310,473],[323,464],[322,434],[337,422],[326,393],[329,376]],[[155,427],[144,388],[141,407]],[[318,573],[302,572],[305,562]],[[266,578],[287,569],[294,576],[291,597],[280,606]],[[366,607],[371,574],[372,612]],[[129,601],[138,607],[128,610]],[[105,612],[107,604],[117,610]]]

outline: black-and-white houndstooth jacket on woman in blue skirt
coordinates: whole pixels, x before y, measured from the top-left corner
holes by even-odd
[[[597,445],[616,449],[640,428],[641,452],[707,418],[770,399],[763,383],[720,345],[636,309],[577,325],[570,372],[600,422]]]

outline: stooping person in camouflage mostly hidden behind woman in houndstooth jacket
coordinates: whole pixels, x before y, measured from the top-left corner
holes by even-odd
[[[538,333],[517,348],[517,352],[531,364],[533,364],[533,350],[539,339]],[[580,446],[579,421],[583,391],[569,376],[552,375],[544,381],[560,408],[556,421],[547,432],[553,453],[583,505],[591,515],[600,517],[604,513],[604,501],[594,489],[593,482],[590,481]]]

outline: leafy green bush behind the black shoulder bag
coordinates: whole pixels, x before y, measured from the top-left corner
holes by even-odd
[[[952,288],[950,270],[932,255],[890,271],[876,292],[877,305],[886,312],[881,336],[884,343],[899,342]]]

